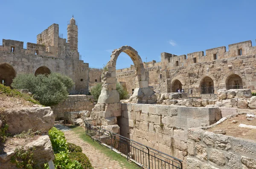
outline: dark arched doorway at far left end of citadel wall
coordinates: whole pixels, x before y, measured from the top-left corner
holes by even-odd
[[[11,86],[12,79],[16,76],[16,72],[8,63],[0,63],[0,83],[5,86]]]

